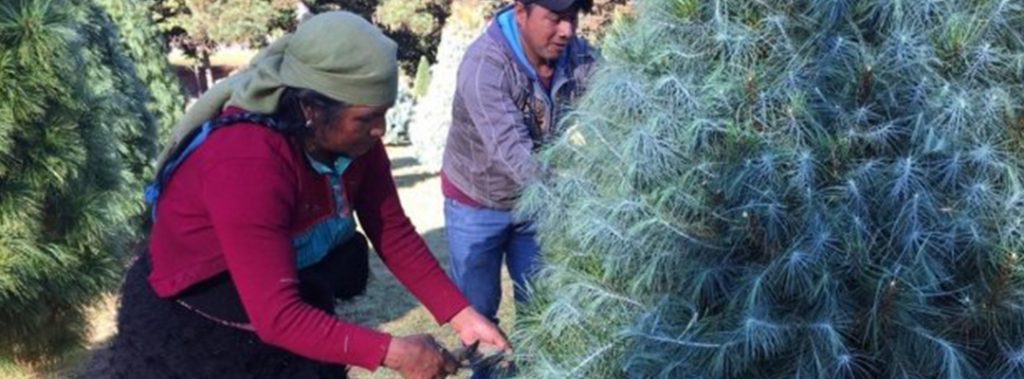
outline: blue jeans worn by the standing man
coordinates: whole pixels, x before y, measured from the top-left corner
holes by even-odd
[[[531,222],[516,222],[510,211],[474,208],[444,199],[444,226],[452,280],[474,309],[498,323],[503,260],[515,283],[516,303],[526,301],[523,286],[541,263]],[[489,377],[489,372],[473,373],[473,379]]]

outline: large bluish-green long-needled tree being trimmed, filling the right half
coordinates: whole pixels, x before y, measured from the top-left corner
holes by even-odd
[[[637,6],[520,204],[522,377],[1024,377],[1024,4]]]

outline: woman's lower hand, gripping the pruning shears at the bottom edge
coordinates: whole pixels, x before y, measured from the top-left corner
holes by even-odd
[[[384,367],[407,379],[445,378],[459,371],[455,359],[429,334],[391,338]]]

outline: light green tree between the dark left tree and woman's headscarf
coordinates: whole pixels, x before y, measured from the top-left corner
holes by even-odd
[[[161,140],[185,108],[185,95],[167,60],[164,36],[150,17],[154,0],[96,0],[118,26],[121,43],[148,86],[146,109],[159,122]]]

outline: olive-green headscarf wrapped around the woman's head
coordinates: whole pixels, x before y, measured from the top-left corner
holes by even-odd
[[[389,106],[398,86],[397,45],[377,27],[345,11],[316,14],[260,51],[249,69],[210,88],[174,125],[157,167],[224,107],[272,114],[285,87],[311,89],[355,106]]]

